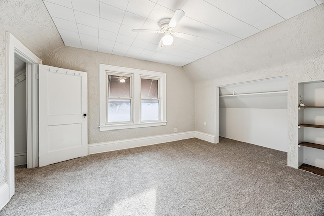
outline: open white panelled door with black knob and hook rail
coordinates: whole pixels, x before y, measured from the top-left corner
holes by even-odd
[[[39,65],[39,167],[88,154],[87,73]]]

